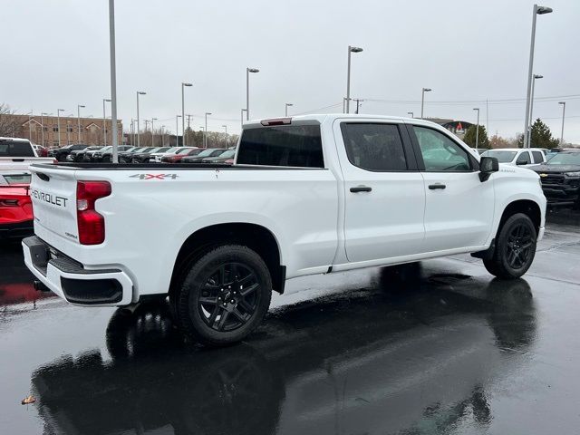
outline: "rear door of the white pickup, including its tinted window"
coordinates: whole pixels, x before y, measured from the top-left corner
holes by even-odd
[[[421,252],[425,188],[404,125],[333,125],[344,178],[344,238],[350,262]]]

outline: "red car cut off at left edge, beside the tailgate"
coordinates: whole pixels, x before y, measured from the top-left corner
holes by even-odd
[[[0,240],[33,234],[33,204],[28,190],[28,184],[0,185]]]

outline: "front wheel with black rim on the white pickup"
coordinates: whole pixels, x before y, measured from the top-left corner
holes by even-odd
[[[501,279],[516,279],[532,266],[536,256],[536,228],[530,218],[517,213],[507,218],[499,228],[496,250],[489,260],[483,260],[491,275]]]

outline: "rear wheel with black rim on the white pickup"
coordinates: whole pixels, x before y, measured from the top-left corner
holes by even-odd
[[[261,323],[270,306],[272,279],[252,249],[212,247],[193,262],[170,297],[184,333],[198,343],[224,346],[242,341]]]

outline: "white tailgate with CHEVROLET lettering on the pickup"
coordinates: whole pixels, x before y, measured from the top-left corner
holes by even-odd
[[[78,243],[75,170],[56,167],[31,167],[30,170],[34,227],[43,227]]]

